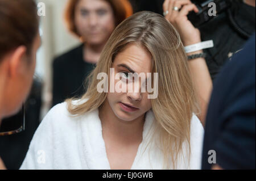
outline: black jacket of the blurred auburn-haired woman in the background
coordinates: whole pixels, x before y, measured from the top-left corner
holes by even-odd
[[[95,65],[84,61],[83,47],[79,45],[53,60],[52,106],[85,93],[85,79]]]

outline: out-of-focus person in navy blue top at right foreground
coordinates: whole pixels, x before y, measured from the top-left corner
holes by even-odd
[[[214,82],[202,169],[255,169],[255,34]]]

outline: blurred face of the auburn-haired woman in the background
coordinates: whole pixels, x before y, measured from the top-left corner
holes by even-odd
[[[80,0],[75,10],[75,25],[86,43],[106,43],[115,28],[113,9],[104,0]]]

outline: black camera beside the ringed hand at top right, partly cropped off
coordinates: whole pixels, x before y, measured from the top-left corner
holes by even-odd
[[[231,0],[192,0],[192,3],[197,6],[199,12],[190,12],[188,19],[197,28],[209,22],[209,20],[216,18],[219,14],[225,12],[232,5]],[[214,7],[210,5],[213,5]],[[214,12],[213,15],[212,11],[215,10],[216,12]]]

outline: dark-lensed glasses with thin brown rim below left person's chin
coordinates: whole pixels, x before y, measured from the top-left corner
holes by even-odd
[[[15,116],[3,119],[0,125],[0,136],[7,136],[11,134],[25,131],[25,110],[24,104],[22,110]]]

